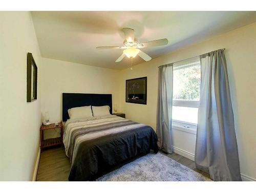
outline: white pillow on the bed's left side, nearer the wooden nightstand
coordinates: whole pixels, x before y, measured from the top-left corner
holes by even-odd
[[[71,108],[68,110],[70,119],[93,117],[91,105],[79,106],[78,108]]]

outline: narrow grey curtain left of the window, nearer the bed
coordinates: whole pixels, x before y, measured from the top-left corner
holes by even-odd
[[[173,153],[172,106],[173,106],[173,63],[159,67],[157,136],[160,150]]]

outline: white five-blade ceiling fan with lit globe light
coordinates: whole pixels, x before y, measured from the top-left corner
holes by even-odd
[[[142,52],[140,50],[141,48],[164,46],[168,44],[168,40],[166,38],[142,42],[140,44],[139,41],[135,38],[134,29],[131,28],[123,28],[123,33],[125,35],[125,40],[123,41],[124,46],[96,47],[96,49],[124,49],[123,54],[118,57],[116,62],[121,61],[125,55],[129,58],[134,58],[139,55],[145,61],[149,61],[151,60],[151,57]]]

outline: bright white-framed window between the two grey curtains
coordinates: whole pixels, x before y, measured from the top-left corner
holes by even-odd
[[[174,63],[173,125],[196,129],[200,100],[201,67],[199,58]]]

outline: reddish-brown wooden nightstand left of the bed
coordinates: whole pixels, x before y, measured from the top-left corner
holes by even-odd
[[[50,129],[60,129],[60,137],[57,138],[51,138],[51,139],[45,139],[44,140],[44,131],[50,130]],[[63,144],[63,124],[60,121],[58,125],[56,126],[55,123],[51,123],[49,125],[44,125],[42,123],[40,127],[40,149],[43,150],[46,147],[49,146],[55,146],[55,145],[62,145]]]

